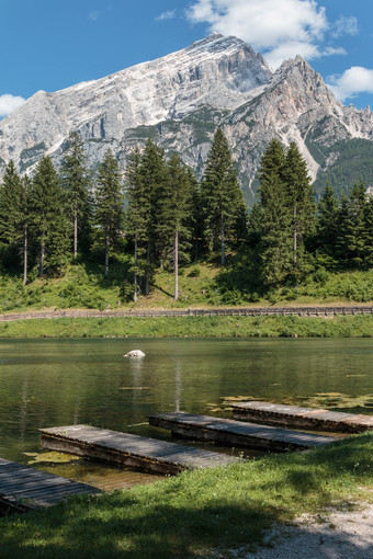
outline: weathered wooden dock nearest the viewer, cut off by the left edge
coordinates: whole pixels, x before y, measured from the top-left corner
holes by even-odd
[[[52,506],[75,493],[101,491],[86,483],[0,458],[1,512],[26,512]]]

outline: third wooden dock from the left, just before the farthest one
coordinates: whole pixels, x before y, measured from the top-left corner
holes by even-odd
[[[313,448],[337,441],[332,436],[193,413],[159,413],[149,415],[148,419],[151,425],[170,430],[174,435],[273,452],[284,452],[287,448]]]

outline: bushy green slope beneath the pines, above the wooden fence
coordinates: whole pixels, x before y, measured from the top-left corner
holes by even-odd
[[[132,301],[132,276],[128,275],[126,262],[114,262],[108,278],[100,266],[88,264],[69,265],[61,277],[45,275],[39,278],[35,272],[30,274],[26,286],[22,285],[20,276],[0,272],[0,312],[136,307]],[[150,294],[142,296],[137,307],[267,307],[273,304],[354,305],[373,301],[373,270],[330,273],[323,269],[310,273],[298,288],[283,286],[265,290],[263,285],[257,285],[255,280],[249,271],[249,263],[245,260],[229,256],[225,266],[214,262],[194,263],[180,270],[179,300],[174,303],[173,274],[157,270]]]

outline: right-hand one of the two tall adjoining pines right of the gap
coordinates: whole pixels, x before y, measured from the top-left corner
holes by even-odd
[[[315,223],[315,203],[306,161],[294,141],[285,156],[282,176],[292,216],[294,276],[298,278],[304,267],[304,240]]]

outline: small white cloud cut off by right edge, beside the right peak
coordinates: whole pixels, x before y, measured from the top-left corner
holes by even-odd
[[[373,70],[352,66],[341,75],[329,76],[328,85],[339,101],[353,99],[360,93],[373,93]]]

